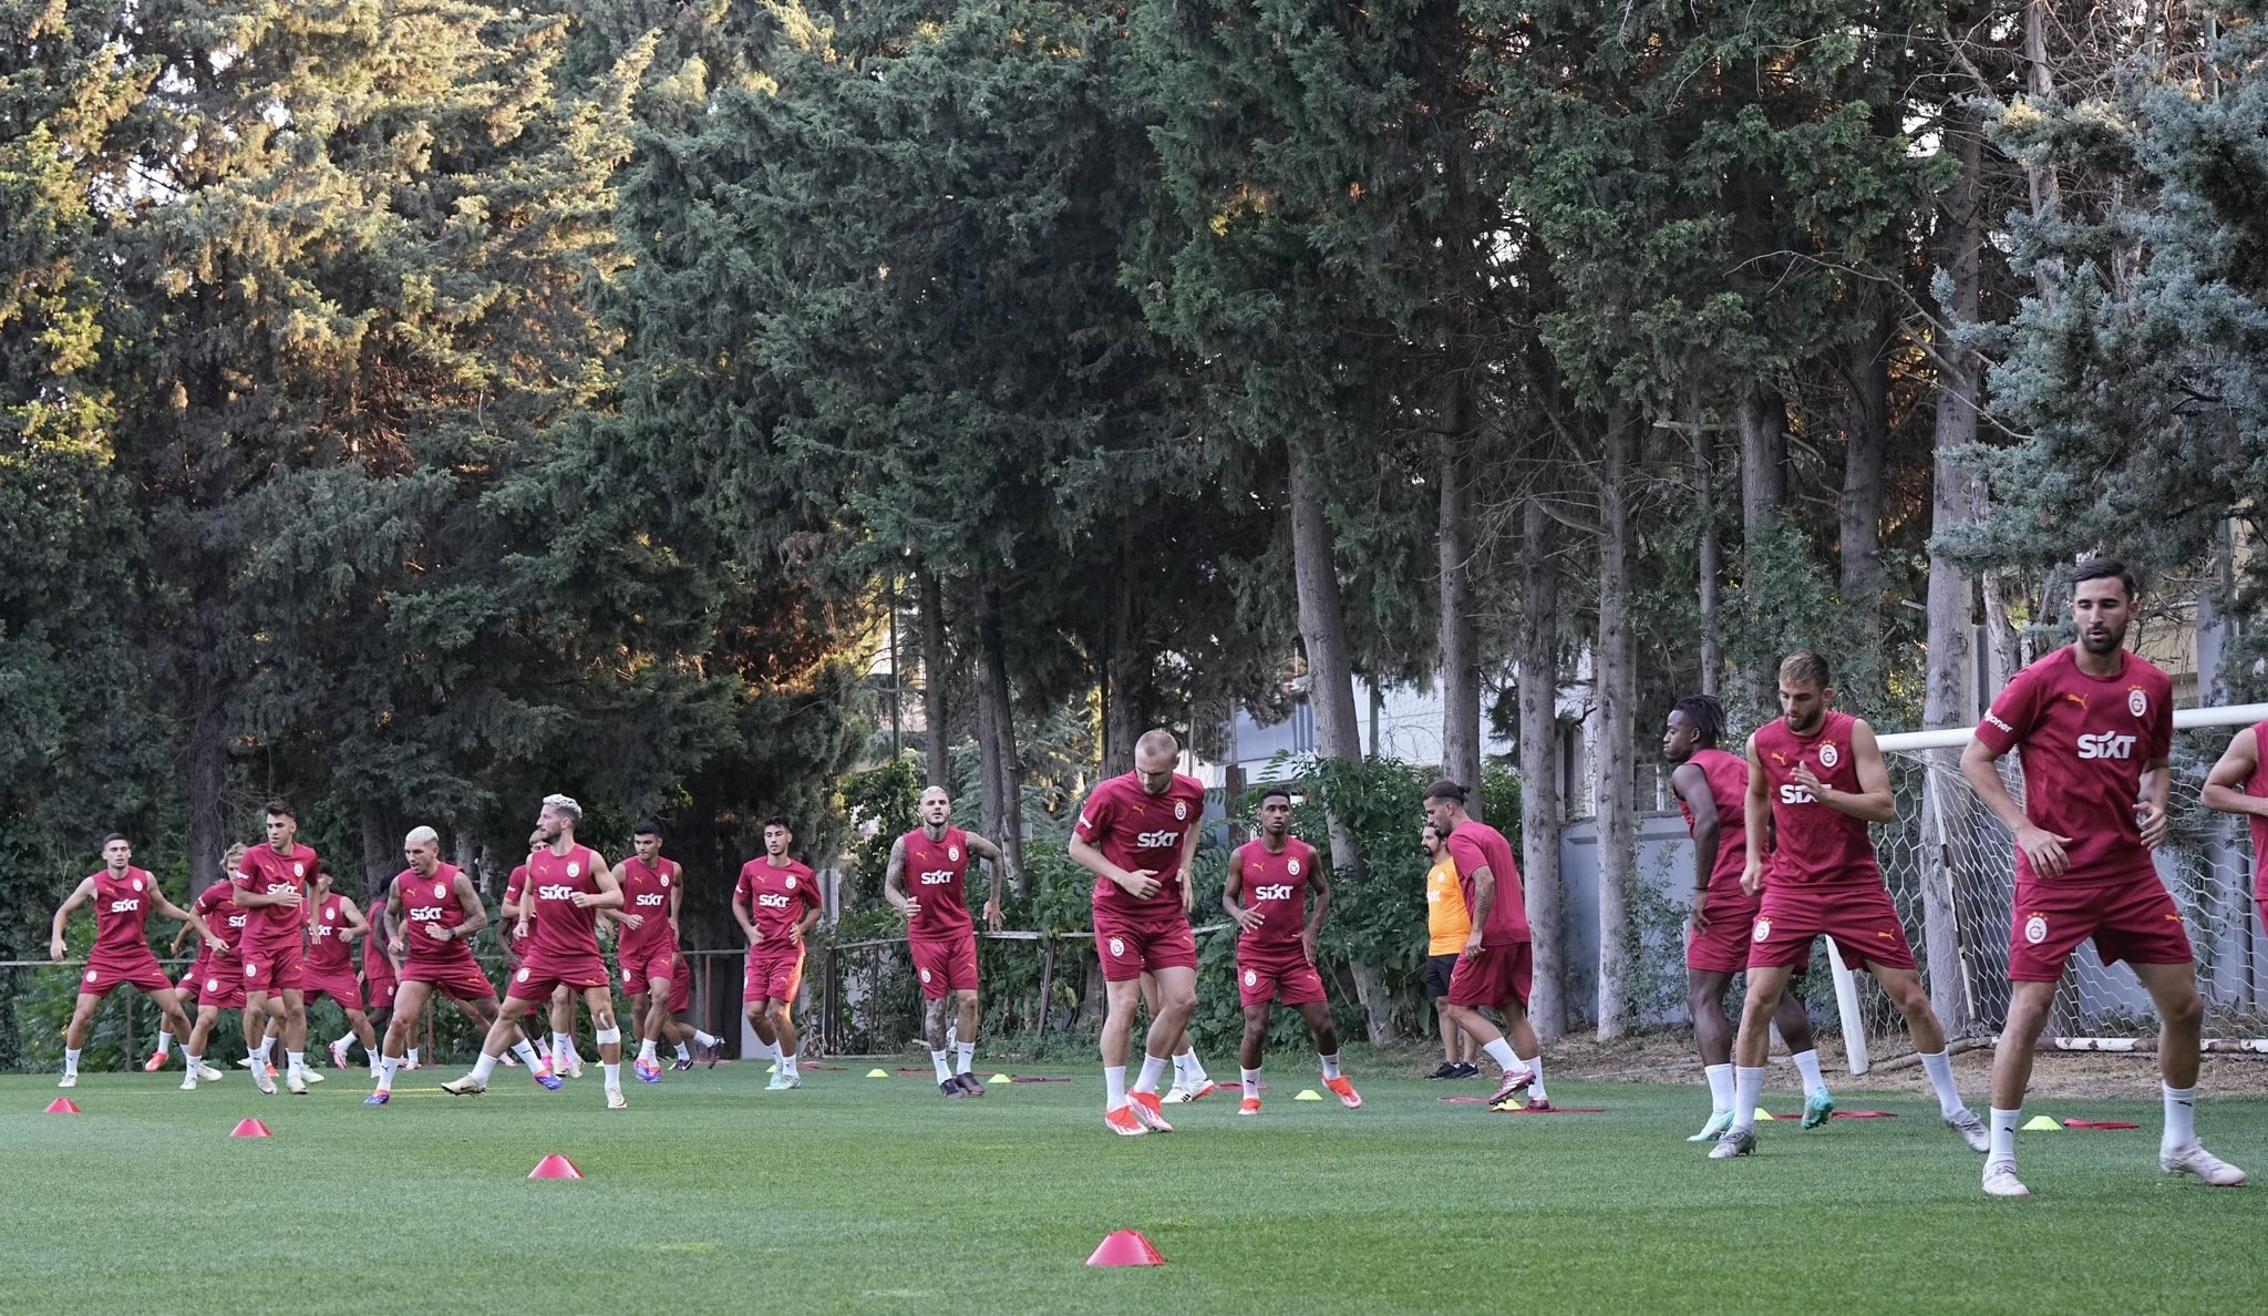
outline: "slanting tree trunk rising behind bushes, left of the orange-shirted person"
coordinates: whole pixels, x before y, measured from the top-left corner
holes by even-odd
[[[1338,594],[1338,556],[1331,549],[1331,526],[1322,515],[1322,492],[1315,486],[1315,454],[1306,440],[1288,442],[1290,456],[1290,554],[1293,581],[1300,594],[1300,642],[1306,649],[1306,703],[1315,715],[1315,753],[1361,762],[1361,726],[1354,719],[1354,658],[1347,644],[1347,608]],[[1354,833],[1336,812],[1327,815],[1331,833],[1331,871],[1361,878],[1363,855]],[[1377,964],[1349,964],[1354,980],[1379,973]],[[1393,1014],[1370,1012],[1370,1044],[1395,1041]]]

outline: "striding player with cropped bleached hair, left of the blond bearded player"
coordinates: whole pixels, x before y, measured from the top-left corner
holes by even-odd
[[[395,1019],[386,1026],[379,1085],[363,1105],[386,1105],[392,1098],[395,1073],[406,1062],[406,1044],[415,1037],[417,1016],[435,989],[456,1001],[481,1026],[483,1035],[499,1032],[497,987],[481,971],[481,962],[472,958],[472,939],[488,926],[481,892],[474,889],[463,869],[440,862],[440,833],[433,828],[411,828],[401,837],[401,858],[411,867],[395,874],[392,885],[386,887],[386,937],[388,948],[401,955],[401,978],[395,989]],[[535,1082],[558,1091],[560,1080],[535,1057],[526,1035],[517,1026],[503,1032]]]

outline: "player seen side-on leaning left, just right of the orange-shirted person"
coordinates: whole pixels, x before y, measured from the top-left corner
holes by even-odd
[[[1474,821],[1465,810],[1467,787],[1440,778],[1424,792],[1427,821],[1442,835],[1442,849],[1456,864],[1472,930],[1449,973],[1449,1016],[1504,1071],[1504,1082],[1488,1098],[1490,1110],[1510,1110],[1520,1089],[1529,1091],[1520,1110],[1551,1110],[1545,1094],[1545,1055],[1529,1023],[1529,987],[1535,980],[1535,935],[1529,930],[1529,901],[1520,889],[1520,864],[1513,844],[1497,828]],[[1499,1030],[1481,1010],[1499,1010]],[[1510,1035],[1510,1039],[1506,1039]],[[1526,1055],[1520,1055],[1526,1051]]]

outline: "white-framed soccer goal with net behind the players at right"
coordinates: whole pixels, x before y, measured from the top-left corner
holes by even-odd
[[[2268,717],[2268,703],[2184,708],[2173,715],[2170,833],[2157,871],[2180,903],[2198,953],[2207,1051],[2268,1053],[2268,935],[2252,910],[2252,842],[2243,819],[2207,810],[2198,792],[2229,735]],[[2007,1012],[2009,903],[2016,851],[2007,828],[1962,781],[1969,731],[1885,735],[1882,753],[1898,792],[1898,821],[1876,830],[1882,876],[1914,933],[1930,998],[1948,1037],[1991,1039]],[[2003,778],[2023,799],[2016,756]],[[1851,1071],[1867,1071],[1867,1037],[1894,1037],[1901,1023],[1867,978],[1835,967],[1835,994],[1851,1048]],[[2136,1051],[2157,1037],[2148,994],[2125,967],[2105,969],[2080,946],[2055,996],[2048,1037],[2064,1051]]]

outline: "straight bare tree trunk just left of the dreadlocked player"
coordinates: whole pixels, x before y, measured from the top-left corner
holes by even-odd
[[[1637,647],[1631,638],[1631,467],[1637,422],[1615,408],[1599,472],[1599,1039],[1628,1026],[1631,892],[1637,887]]]

